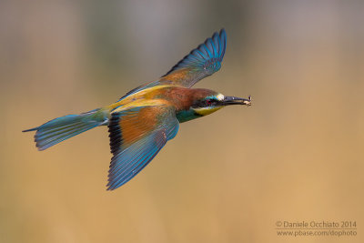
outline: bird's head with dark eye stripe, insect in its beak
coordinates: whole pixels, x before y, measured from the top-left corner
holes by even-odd
[[[212,90],[199,89],[195,93],[190,108],[199,116],[207,116],[222,107],[230,105],[251,106],[251,97],[248,96],[247,99],[235,96],[224,96]]]

